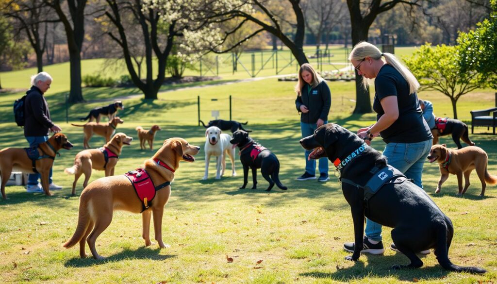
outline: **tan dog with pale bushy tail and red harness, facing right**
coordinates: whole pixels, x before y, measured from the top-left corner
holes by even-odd
[[[91,177],[91,169],[105,171],[106,177],[113,176],[114,167],[117,165],[123,145],[130,145],[132,140],[133,137],[126,136],[124,133],[117,133],[102,148],[87,149],[76,154],[74,166],[64,170],[66,174],[75,175],[71,193],[76,194],[76,183],[82,174],[84,174],[83,189],[86,188]]]

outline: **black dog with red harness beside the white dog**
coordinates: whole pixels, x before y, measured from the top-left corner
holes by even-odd
[[[240,161],[244,166],[244,185],[240,189],[245,189],[247,186],[248,168],[252,169],[252,189],[257,188],[257,169],[260,169],[262,177],[269,182],[266,191],[271,190],[274,184],[280,189],[288,189],[279,180],[279,161],[269,149],[262,147],[248,137],[248,133],[244,130],[235,131],[230,143],[234,145],[233,147],[238,145],[240,148]]]

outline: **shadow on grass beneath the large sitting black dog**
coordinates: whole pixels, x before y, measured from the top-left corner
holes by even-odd
[[[374,255],[361,255],[361,258],[367,258],[367,265],[365,266],[360,259],[354,262],[354,265],[349,268],[338,268],[335,272],[313,270],[306,273],[299,274],[302,277],[311,277],[319,279],[332,279],[335,281],[357,281],[362,279],[369,279],[371,277],[378,278],[392,278],[396,277],[401,281],[414,281],[433,280],[436,278],[442,279],[450,272],[442,269],[436,265],[434,267],[421,267],[418,269],[405,269],[405,270],[392,270],[392,265],[395,264],[408,264],[409,260],[403,254],[389,255],[389,256],[374,256]],[[421,257],[422,259],[422,257]],[[337,265],[338,267],[338,265]]]

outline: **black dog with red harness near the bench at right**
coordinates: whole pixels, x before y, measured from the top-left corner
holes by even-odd
[[[452,140],[456,143],[457,149],[463,147],[459,141],[460,139],[470,146],[475,146],[475,143],[469,139],[468,125],[461,120],[447,118],[447,121],[445,122],[443,118],[437,117],[435,123],[436,127],[431,129],[433,145],[438,144],[438,137],[452,134]]]

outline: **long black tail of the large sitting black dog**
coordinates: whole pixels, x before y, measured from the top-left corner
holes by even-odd
[[[447,222],[448,221],[448,222]],[[454,234],[454,228],[450,220],[446,220],[443,223],[439,223],[436,229],[436,247],[435,256],[438,263],[446,270],[455,272],[469,272],[472,274],[484,274],[487,271],[485,269],[473,266],[458,266],[450,262],[449,260],[449,246],[452,241],[452,236]]]

